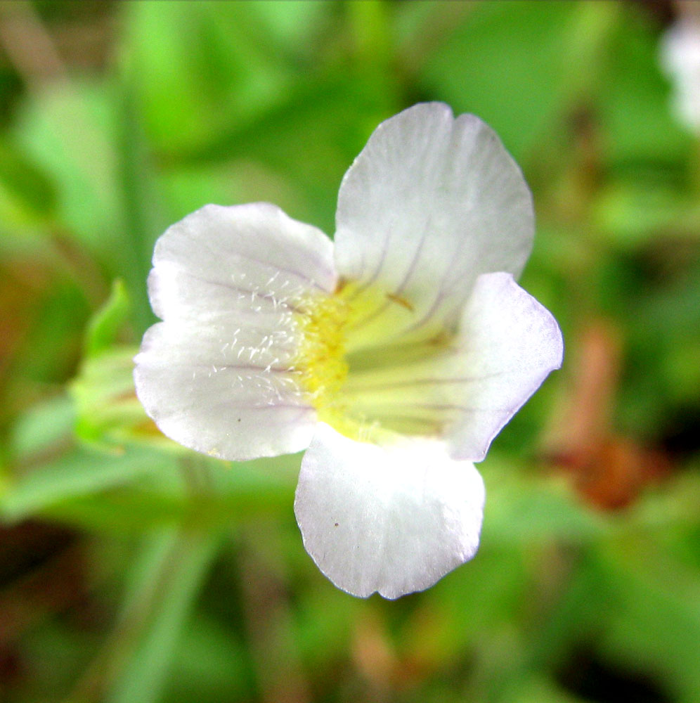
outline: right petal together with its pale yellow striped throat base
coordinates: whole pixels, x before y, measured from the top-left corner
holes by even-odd
[[[481,461],[562,354],[552,315],[510,273],[484,273],[455,335],[350,354],[343,399],[366,425],[446,437],[454,458]]]

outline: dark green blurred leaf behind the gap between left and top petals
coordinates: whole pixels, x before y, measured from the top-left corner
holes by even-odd
[[[273,177],[292,183],[293,190],[289,186],[285,189],[292,200],[280,200],[278,205],[292,217],[311,221],[332,234],[342,176],[372,129],[391,115],[396,98],[384,82],[365,82],[340,72],[305,79],[278,98],[254,122],[232,122],[211,144],[183,154],[182,161],[188,167],[232,160],[262,165],[263,173],[269,171]],[[361,119],[348,120],[349,104]],[[242,176],[239,192],[253,200],[258,198],[246,176],[251,170],[259,173],[259,169],[238,171]],[[264,179],[259,182],[261,192],[269,193]]]

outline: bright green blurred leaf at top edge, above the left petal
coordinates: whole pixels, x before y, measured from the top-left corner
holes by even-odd
[[[290,66],[265,31],[269,12],[258,3],[146,2],[123,9],[127,60],[160,150],[201,148],[222,129],[254,120],[290,86]],[[305,14],[313,21],[313,13],[297,17]]]

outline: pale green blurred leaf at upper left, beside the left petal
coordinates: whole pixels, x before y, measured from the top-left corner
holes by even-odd
[[[141,122],[118,83],[72,82],[37,93],[15,140],[52,179],[56,219],[129,289],[140,329],[150,324],[145,279],[169,219],[153,184]]]

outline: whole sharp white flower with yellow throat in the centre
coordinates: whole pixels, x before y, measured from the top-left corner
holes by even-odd
[[[308,448],[294,510],[321,571],[353,595],[420,591],[474,556],[472,462],[562,361],[556,321],[514,280],[532,238],[493,131],[415,105],[346,173],[335,244],[267,203],[164,233],[138,396],[212,456]]]

